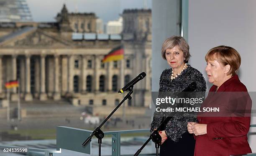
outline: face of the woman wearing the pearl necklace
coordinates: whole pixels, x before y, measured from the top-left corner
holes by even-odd
[[[183,51],[179,50],[177,46],[174,46],[172,49],[166,49],[165,57],[167,63],[172,67],[172,69],[184,66]]]

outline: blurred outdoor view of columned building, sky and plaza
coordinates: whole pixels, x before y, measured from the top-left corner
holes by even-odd
[[[118,90],[141,72],[147,76],[132,99],[101,129],[149,128],[151,6],[151,0],[0,0],[0,142],[56,149],[56,126],[94,130],[123,100]],[[102,62],[120,46],[121,59]]]

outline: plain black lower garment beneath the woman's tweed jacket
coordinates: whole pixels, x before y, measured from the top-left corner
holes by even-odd
[[[188,132],[179,138],[179,142],[172,141],[168,138],[160,146],[160,156],[194,156],[195,139],[193,134]]]

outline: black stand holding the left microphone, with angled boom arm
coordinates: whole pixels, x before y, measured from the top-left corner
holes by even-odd
[[[102,132],[102,130],[100,130],[100,128],[102,127],[102,125],[104,125],[105,122],[107,122],[107,120],[115,113],[115,111],[123,104],[123,102],[125,102],[125,100],[129,99],[131,100],[131,94],[133,93],[133,86],[131,86],[129,89],[129,92],[127,93],[127,95],[125,95],[125,97],[123,98],[123,100],[115,107],[115,109],[110,113],[110,115],[108,115],[107,118],[105,118],[105,120],[99,125],[99,127],[97,127],[92,134],[84,141],[84,143],[82,143],[83,146],[86,146],[87,143],[89,143],[90,141],[92,141],[92,137],[95,136],[96,138],[98,138],[98,144],[99,144],[99,156],[101,155],[101,143],[102,143],[102,138],[104,137],[104,132]],[[160,136],[161,137],[161,136]]]

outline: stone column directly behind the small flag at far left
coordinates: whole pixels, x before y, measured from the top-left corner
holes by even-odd
[[[12,55],[12,80],[17,79],[17,55]],[[11,92],[11,101],[17,101],[18,100],[18,94],[17,94],[17,87],[12,88]]]

